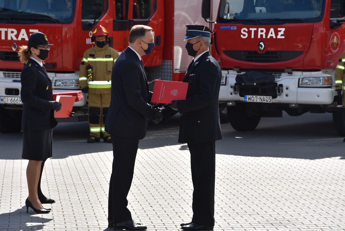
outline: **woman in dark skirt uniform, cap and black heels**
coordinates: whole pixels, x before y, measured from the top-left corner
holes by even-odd
[[[51,45],[47,36],[37,31],[29,37],[28,46],[21,46],[18,52],[20,61],[25,64],[21,72],[20,96],[23,102],[22,158],[29,160],[26,169],[29,190],[25,201],[27,212],[31,207],[36,213],[49,213],[50,209],[44,209],[42,203],[55,202],[47,199],[40,188],[44,162],[52,156],[52,128],[58,124],[54,110],[61,109],[61,103],[52,101],[51,80],[43,67]]]

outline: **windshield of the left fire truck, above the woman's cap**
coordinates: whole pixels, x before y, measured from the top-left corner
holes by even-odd
[[[76,0],[0,0],[0,23],[71,23]]]

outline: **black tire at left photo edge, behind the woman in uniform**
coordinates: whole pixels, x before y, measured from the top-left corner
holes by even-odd
[[[21,130],[22,110],[5,109],[0,105],[0,132],[11,133]]]

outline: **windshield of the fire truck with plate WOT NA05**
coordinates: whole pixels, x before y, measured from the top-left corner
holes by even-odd
[[[267,25],[322,20],[325,0],[221,0],[218,21]]]

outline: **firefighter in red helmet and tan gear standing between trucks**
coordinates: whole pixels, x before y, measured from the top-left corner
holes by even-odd
[[[103,141],[111,143],[110,135],[104,130],[110,97],[111,71],[119,56],[109,47],[109,33],[101,25],[92,31],[93,47],[84,52],[80,63],[79,82],[83,93],[88,93],[90,137],[88,143]]]

